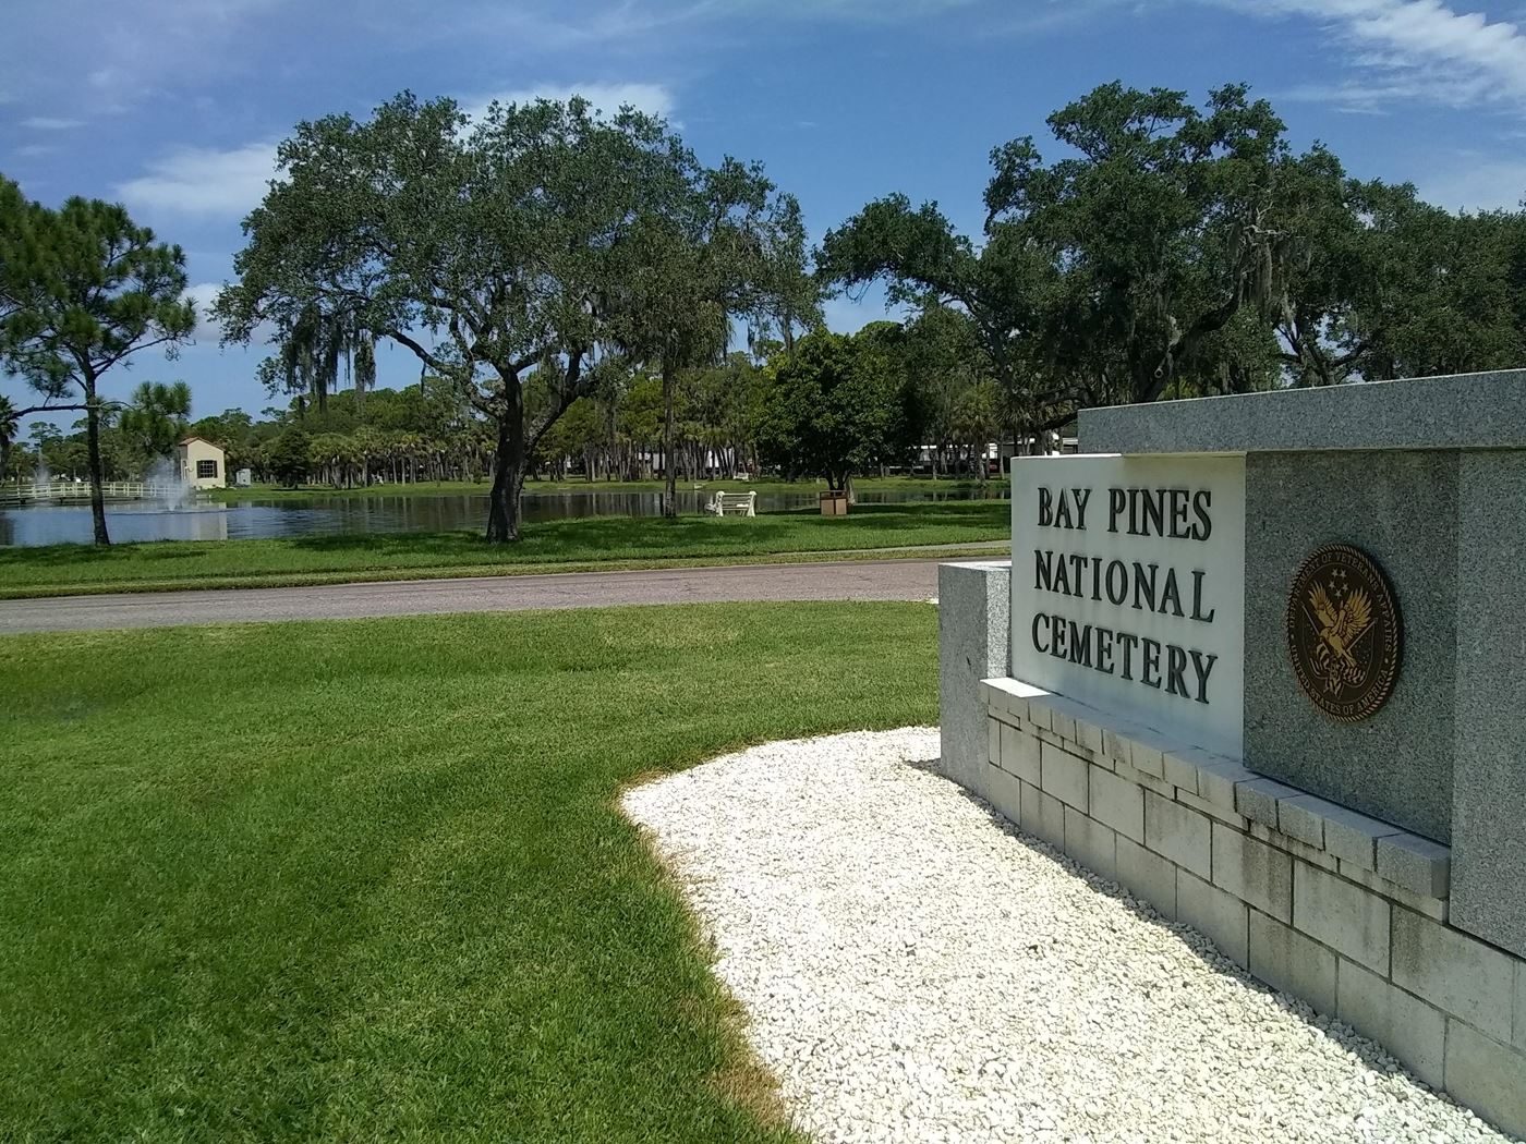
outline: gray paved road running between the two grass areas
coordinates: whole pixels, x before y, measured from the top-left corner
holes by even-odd
[[[937,567],[938,560],[862,560],[6,599],[0,633],[736,599],[928,599],[937,595]]]

